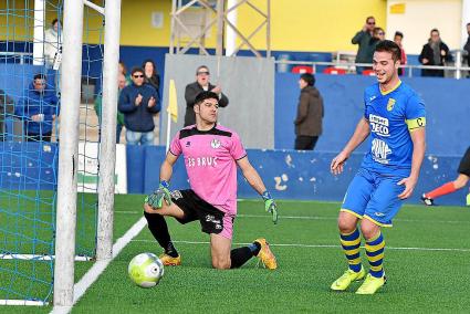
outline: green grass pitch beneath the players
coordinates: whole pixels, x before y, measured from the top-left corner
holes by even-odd
[[[140,217],[143,196],[116,196],[115,238]],[[127,278],[127,264],[142,252],[160,253],[144,229],[109,264],[72,313],[468,313],[470,308],[470,209],[405,206],[385,229],[388,283],[376,295],[328,290],[346,269],[338,247],[340,203],[279,201],[273,226],[261,200],[240,201],[234,243],[265,237],[278,257],[269,271],[250,260],[238,270],[210,266],[209,237],[198,222],[180,226],[168,219],[182,265],[165,269],[160,284],[140,289]],[[234,244],[233,247],[239,247]],[[363,259],[365,254],[362,254]],[[365,265],[367,265],[364,260]],[[76,280],[91,262],[76,263]],[[49,312],[46,307],[0,307],[4,313]]]

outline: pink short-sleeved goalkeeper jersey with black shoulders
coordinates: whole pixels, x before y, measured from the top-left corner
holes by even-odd
[[[184,155],[191,189],[228,214],[237,213],[237,160],[247,156],[233,130],[216,125],[198,130],[182,128],[171,142],[170,153]]]

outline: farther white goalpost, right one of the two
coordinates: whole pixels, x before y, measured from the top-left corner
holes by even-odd
[[[100,140],[98,227],[96,243],[96,259],[98,261],[111,260],[113,257],[121,0],[106,1],[104,15],[103,111]]]

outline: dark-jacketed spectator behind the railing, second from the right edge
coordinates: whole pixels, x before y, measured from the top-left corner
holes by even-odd
[[[422,46],[419,62],[422,65],[446,65],[446,62],[452,61],[449,48],[445,44],[437,29],[431,30],[431,38],[428,43]],[[422,76],[440,76],[443,77],[443,70],[422,69]]]

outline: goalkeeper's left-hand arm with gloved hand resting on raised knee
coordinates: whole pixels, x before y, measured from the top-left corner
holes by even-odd
[[[175,156],[171,154],[171,151],[168,151],[160,167],[160,184],[158,185],[158,189],[145,198],[145,202],[155,209],[161,208],[164,200],[168,206],[171,205],[169,180],[171,179],[173,166],[175,165],[176,160],[178,160],[178,156]]]

